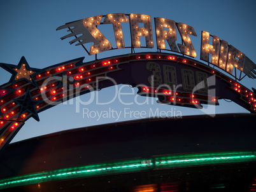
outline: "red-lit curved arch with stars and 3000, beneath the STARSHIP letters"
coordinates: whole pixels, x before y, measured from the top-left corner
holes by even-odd
[[[0,64],[12,76],[0,87],[0,149],[6,147],[29,118],[61,102],[108,86],[127,84],[139,95],[185,107],[218,105],[231,99],[251,113],[256,96],[229,76],[191,58],[165,53],[133,53],[82,62],[82,58],[35,69],[24,57],[18,65]]]

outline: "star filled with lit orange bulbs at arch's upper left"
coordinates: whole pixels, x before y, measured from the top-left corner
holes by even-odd
[[[15,81],[20,81],[25,79],[32,85],[38,87],[38,85],[36,84],[36,81],[33,78],[33,75],[36,72],[39,72],[42,70],[31,68],[29,64],[27,64],[27,60],[25,60],[25,57],[22,57],[20,59],[20,62],[18,63],[18,65],[0,63],[0,67],[2,67],[3,69],[5,69],[6,71],[12,74],[9,83],[14,83]]]

